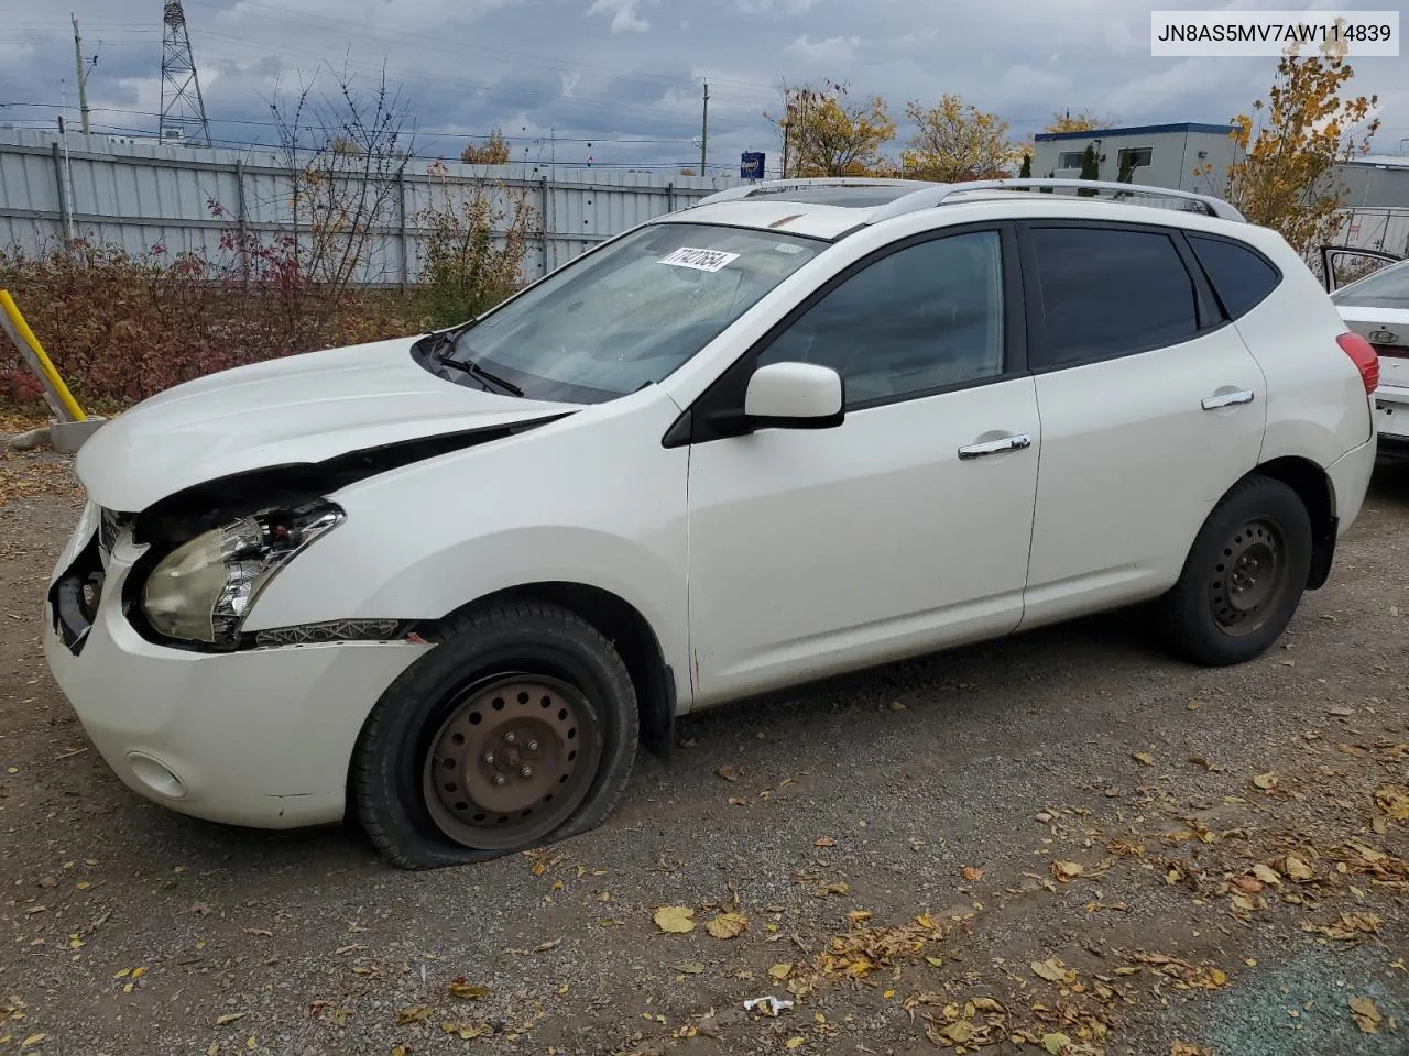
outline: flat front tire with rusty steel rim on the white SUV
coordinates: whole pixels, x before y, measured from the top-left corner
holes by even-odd
[[[620,655],[537,601],[457,617],[372,710],[349,784],[403,869],[483,862],[596,828],[626,788],[640,717]]]

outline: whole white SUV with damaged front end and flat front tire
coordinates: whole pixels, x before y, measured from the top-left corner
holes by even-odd
[[[1134,603],[1258,656],[1360,511],[1375,363],[1212,199],[738,187],[104,425],[48,662],[152,800],[493,857],[727,700]]]

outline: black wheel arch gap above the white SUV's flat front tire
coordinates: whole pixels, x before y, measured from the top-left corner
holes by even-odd
[[[665,650],[651,621],[635,605],[610,590],[566,580],[504,587],[466,601],[440,620],[418,624],[417,632],[434,641],[441,627],[469,610],[526,600],[561,605],[592,624],[612,642],[635,687],[641,742],[652,755],[668,760],[675,742],[675,673],[665,662]]]

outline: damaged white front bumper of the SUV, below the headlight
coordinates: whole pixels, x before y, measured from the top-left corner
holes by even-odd
[[[100,589],[85,593],[100,549],[97,520],[85,514],[55,567],[44,650],[118,779],[210,821],[338,821],[368,712],[427,645],[340,641],[207,653],[147,641],[121,604],[139,552],[118,543],[101,560]]]

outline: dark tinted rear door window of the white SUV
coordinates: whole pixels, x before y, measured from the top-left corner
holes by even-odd
[[[1036,228],[1044,352],[1061,366],[1109,359],[1198,332],[1193,280],[1168,235],[1113,228]]]

